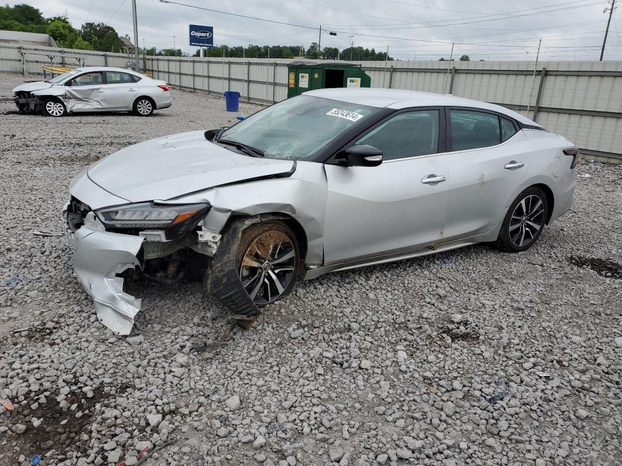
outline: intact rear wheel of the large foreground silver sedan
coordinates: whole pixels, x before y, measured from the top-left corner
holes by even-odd
[[[544,229],[549,203],[544,191],[531,187],[522,191],[509,206],[496,245],[508,252],[529,249]]]

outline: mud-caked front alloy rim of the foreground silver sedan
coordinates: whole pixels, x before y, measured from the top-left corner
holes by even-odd
[[[249,245],[239,269],[246,293],[263,306],[283,295],[294,280],[296,252],[292,240],[280,231],[267,231]]]

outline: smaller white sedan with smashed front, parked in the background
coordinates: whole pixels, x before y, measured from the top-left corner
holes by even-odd
[[[149,116],[171,106],[166,81],[110,66],[85,66],[49,81],[26,83],[13,89],[23,113],[65,116],[77,112],[126,112]]]

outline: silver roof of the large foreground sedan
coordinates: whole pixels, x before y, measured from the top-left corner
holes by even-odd
[[[524,124],[536,125],[529,118],[506,107],[457,97],[452,94],[435,94],[431,92],[408,91],[406,89],[335,88],[316,89],[315,91],[307,91],[303,95],[337,100],[348,104],[391,109],[410,107],[473,107],[498,112]]]

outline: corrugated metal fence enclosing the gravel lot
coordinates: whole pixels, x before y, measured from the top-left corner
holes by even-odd
[[[50,58],[51,57],[51,58]],[[0,44],[0,71],[40,74],[41,65],[125,67],[121,53]],[[211,94],[238,91],[273,103],[287,96],[287,63],[260,58],[146,57],[141,66],[172,86]],[[478,99],[527,114],[584,153],[622,158],[622,62],[355,62],[377,88]],[[388,66],[386,66],[388,65]],[[385,68],[386,66],[386,68]]]

